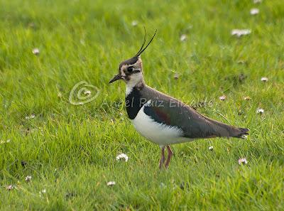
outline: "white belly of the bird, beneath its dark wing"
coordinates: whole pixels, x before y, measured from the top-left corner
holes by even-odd
[[[182,130],[177,126],[167,126],[155,122],[144,113],[144,106],[141,107],[135,119],[132,120],[132,123],[142,136],[159,146],[192,141],[191,139],[182,137]]]

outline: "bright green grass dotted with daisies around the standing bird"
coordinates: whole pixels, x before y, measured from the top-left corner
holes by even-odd
[[[284,210],[283,16],[281,1],[265,0],[1,1],[1,210]],[[142,56],[148,85],[248,127],[249,139],[175,145],[158,170],[160,149],[127,119],[125,85],[108,84],[143,25],[158,29]],[[233,37],[234,28],[251,34]],[[83,80],[98,97],[72,105]],[[119,153],[129,161],[116,162]]]

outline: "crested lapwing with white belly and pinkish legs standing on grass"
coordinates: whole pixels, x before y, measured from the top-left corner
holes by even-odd
[[[148,48],[156,33],[157,30],[144,47],[147,37],[145,29],[143,44],[138,53],[119,64],[118,74],[109,83],[117,80],[126,82],[127,115],[139,134],[160,146],[159,168],[168,168],[173,156],[170,148],[172,144],[215,137],[246,139],[249,129],[205,117],[180,100],[146,85],[141,54]],[[167,160],[165,148],[168,150]]]

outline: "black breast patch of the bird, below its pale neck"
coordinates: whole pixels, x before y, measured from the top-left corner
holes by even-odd
[[[141,107],[143,107],[143,102],[141,102],[141,93],[137,87],[133,87],[132,92],[125,98],[126,112],[129,115],[129,119],[135,119]]]

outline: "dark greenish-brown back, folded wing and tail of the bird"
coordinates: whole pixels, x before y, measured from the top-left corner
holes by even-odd
[[[199,114],[195,109],[178,99],[158,92],[145,85],[138,90],[140,102],[149,102],[144,107],[146,115],[154,121],[168,126],[176,126],[183,131],[183,136],[190,139],[212,137],[242,138],[249,129],[236,128]]]

